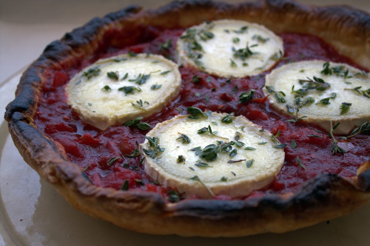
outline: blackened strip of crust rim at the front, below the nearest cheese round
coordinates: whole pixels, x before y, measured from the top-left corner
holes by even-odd
[[[277,195],[247,201],[190,200],[179,202],[172,208],[176,216],[195,216],[212,220],[256,216],[266,210],[300,211],[320,207],[333,202],[333,189],[348,185],[347,181],[336,174],[322,174],[306,182],[303,187],[289,199]],[[354,190],[354,188],[353,188]]]

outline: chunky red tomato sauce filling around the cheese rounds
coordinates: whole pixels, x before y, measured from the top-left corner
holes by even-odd
[[[174,60],[176,40],[183,31],[183,29],[159,31],[155,28],[149,28],[147,36],[141,39],[137,38],[136,43],[139,44],[135,44],[132,42],[132,38],[121,37],[122,33],[111,30],[106,34],[105,39],[114,44],[114,47],[106,47],[102,44],[99,54],[80,62],[77,66],[52,72],[45,81],[34,123],[47,137],[60,143],[70,160],[80,166],[81,170],[87,168],[85,173],[93,184],[118,190],[127,180],[128,189],[157,192],[164,198],[168,197],[168,192],[172,190],[161,187],[148,177],[144,172],[144,167],[139,164],[140,157],[131,160],[124,157],[124,154],[130,154],[131,151],[135,150],[136,142],[142,143],[144,141],[144,136],[148,131],[125,126],[113,126],[101,131],[91,125],[84,124],[66,102],[65,84],[78,71],[97,59],[127,53],[129,50],[135,53],[161,54]],[[277,62],[275,67],[288,62],[322,59],[343,62],[363,69],[349,58],[339,55],[330,45],[317,37],[295,33],[283,33],[280,34],[280,37],[284,41],[285,56],[284,59]],[[112,41],[114,38],[115,41]],[[124,41],[120,42],[119,40]],[[161,44],[165,44],[168,40],[171,40],[172,45],[165,45],[164,48]],[[186,107],[195,106],[203,111],[235,112],[236,116],[244,115],[274,134],[280,130],[278,139],[281,143],[287,144],[284,149],[284,166],[276,180],[269,187],[253,191],[248,197],[240,199],[268,194],[294,193],[302,186],[303,182],[322,173],[335,173],[342,177],[351,177],[356,175],[361,164],[369,160],[369,135],[357,135],[348,142],[341,141],[340,147],[345,148],[347,153],[343,155],[332,154],[330,151],[332,139],[327,136],[326,131],[299,122],[287,122],[289,117],[270,110],[269,103],[261,90],[265,83],[265,75],[269,71],[239,79],[218,78],[190,67],[180,67],[180,72],[182,85],[179,96],[161,112],[143,120],[151,127],[178,115],[179,111],[176,108],[185,114]],[[199,78],[199,82],[192,82],[194,75]],[[233,92],[236,86],[238,90]],[[256,90],[254,98],[248,103],[239,104],[239,95],[250,89]],[[208,102],[206,96],[209,98]],[[307,137],[310,134],[322,138]],[[290,146],[292,140],[296,142],[295,149]],[[297,156],[300,157],[306,169],[298,165]],[[112,157],[120,158],[113,164],[107,165]],[[231,198],[220,195],[215,199]]]

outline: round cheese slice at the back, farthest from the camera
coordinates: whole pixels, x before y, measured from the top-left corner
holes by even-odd
[[[283,40],[263,25],[216,20],[188,28],[177,41],[179,64],[212,75],[245,77],[271,68],[283,56]]]

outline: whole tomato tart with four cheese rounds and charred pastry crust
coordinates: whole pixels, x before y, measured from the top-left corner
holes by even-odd
[[[75,208],[151,234],[282,233],[370,200],[370,15],[129,6],[49,44],[5,113]]]

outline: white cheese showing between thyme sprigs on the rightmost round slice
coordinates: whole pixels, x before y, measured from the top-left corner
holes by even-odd
[[[370,98],[351,90],[359,86],[361,86],[359,90],[369,89],[370,78],[362,74],[359,69],[334,62],[330,62],[330,68],[343,66],[341,72],[332,72],[331,75],[326,75],[321,72],[323,71],[324,62],[302,61],[281,66],[266,76],[266,84],[263,91],[266,94],[273,94],[269,96],[269,101],[272,107],[280,113],[290,115],[293,118],[306,116],[301,120],[317,124],[327,131],[330,130],[330,120],[332,120],[333,125],[340,122],[334,133],[347,134],[354,127],[370,121]],[[345,76],[344,73],[347,69],[348,74]],[[297,95],[292,93],[292,86],[294,85],[294,90],[302,89],[303,86],[307,85],[307,82],[301,84],[299,80],[308,80],[308,78],[313,80],[313,76],[323,79],[324,82],[330,85],[329,88],[326,90],[307,90],[308,93],[302,97],[302,101],[305,101],[310,96],[314,98],[314,102],[299,108],[298,114],[296,114],[296,110],[294,113],[289,113],[287,105],[294,107],[294,100]],[[280,93],[280,96],[286,102],[278,102],[275,93],[268,92],[266,86],[273,86],[277,92],[285,93],[285,96],[282,93]],[[333,98],[334,95],[335,98]],[[325,98],[329,98],[330,104],[317,104]],[[349,112],[340,115],[342,103],[351,103],[352,106],[350,106]]]

